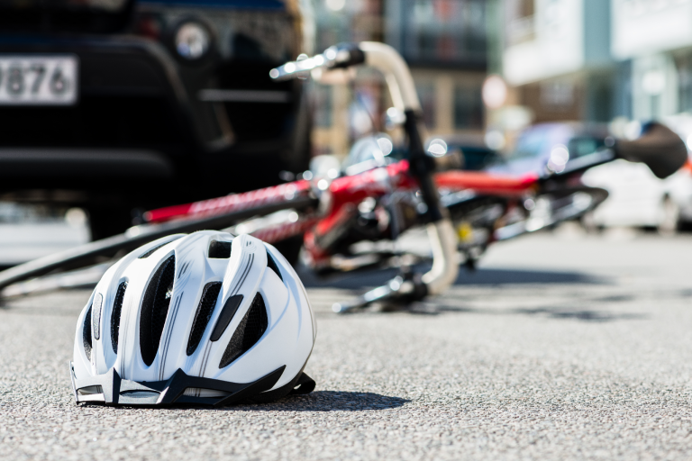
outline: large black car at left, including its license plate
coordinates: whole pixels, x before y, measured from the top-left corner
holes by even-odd
[[[0,199],[80,206],[95,239],[132,210],[277,184],[308,167],[304,0],[0,0]]]

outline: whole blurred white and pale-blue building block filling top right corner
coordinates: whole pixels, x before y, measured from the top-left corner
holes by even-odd
[[[500,1],[500,0],[496,0]],[[692,112],[692,1],[500,1],[510,104],[534,122]]]

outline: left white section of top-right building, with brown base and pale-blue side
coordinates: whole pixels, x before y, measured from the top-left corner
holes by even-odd
[[[502,73],[534,122],[610,121],[619,66],[608,0],[505,0]]]

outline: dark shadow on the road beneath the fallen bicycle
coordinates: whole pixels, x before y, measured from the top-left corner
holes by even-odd
[[[425,273],[430,267],[416,267],[416,271]],[[319,277],[306,268],[298,272],[307,288],[341,288],[360,290],[367,287],[384,285],[395,277],[396,269],[369,270],[355,274],[339,274]],[[484,269],[475,271],[460,269],[454,285],[531,285],[531,284],[588,284],[603,285],[607,279],[589,276],[579,272],[519,270],[519,269]]]

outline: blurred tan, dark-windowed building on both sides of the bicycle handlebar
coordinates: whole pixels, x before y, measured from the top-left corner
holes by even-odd
[[[340,41],[385,41],[404,56],[430,134],[483,133],[486,0],[316,0],[315,14],[318,50]],[[343,155],[354,137],[381,129],[389,104],[383,89],[367,72],[351,88],[317,86],[315,153]]]

